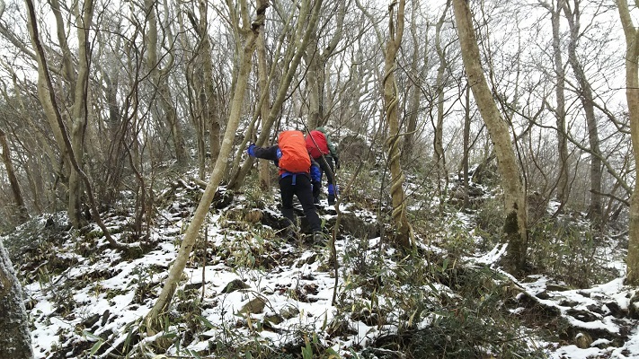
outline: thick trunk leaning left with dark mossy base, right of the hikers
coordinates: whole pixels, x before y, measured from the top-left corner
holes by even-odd
[[[517,157],[510,144],[510,135],[506,122],[493,100],[493,93],[486,82],[481,65],[481,54],[475,36],[470,8],[465,0],[453,0],[455,21],[461,43],[462,59],[477,102],[479,112],[493,139],[501,183],[503,186],[504,223],[503,232],[509,243],[506,267],[515,274],[522,272],[526,263],[527,218],[523,186],[519,176]]]

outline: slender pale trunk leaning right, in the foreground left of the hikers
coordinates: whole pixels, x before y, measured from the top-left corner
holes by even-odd
[[[161,320],[160,316],[168,312],[171,300],[173,299],[173,294],[177,289],[184,267],[189,260],[191,250],[193,249],[193,245],[195,244],[198,233],[200,232],[200,227],[202,223],[204,223],[206,215],[209,213],[209,206],[213,201],[219,182],[222,180],[226,171],[228,157],[233,149],[235,131],[237,130],[242,114],[244,94],[249,83],[249,75],[251,74],[253,52],[257,45],[259,32],[262,31],[264,25],[267,7],[268,3],[265,0],[257,0],[256,18],[252,22],[251,29],[248,32],[248,39],[246,39],[244,51],[242,53],[242,61],[239,63],[239,68],[237,69],[237,83],[233,100],[231,101],[231,111],[229,114],[228,125],[226,126],[224,140],[222,141],[222,147],[220,148],[220,153],[211,173],[207,188],[204,190],[202,198],[200,199],[200,204],[196,208],[191,219],[191,223],[189,223],[189,226],[184,233],[182,245],[180,246],[180,250],[178,251],[175,261],[173,262],[173,266],[169,270],[169,276],[164,283],[162,292],[157,298],[157,302],[155,302],[151,311],[149,311],[146,315],[146,331],[149,335],[155,335],[155,333],[157,333],[164,324],[164,320]]]

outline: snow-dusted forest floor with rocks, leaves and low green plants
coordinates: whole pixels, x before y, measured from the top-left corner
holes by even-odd
[[[104,212],[111,235],[139,242],[139,253],[111,250],[96,225],[73,231],[60,214],[0,237],[22,280],[36,358],[639,357],[624,236],[547,220],[531,234],[530,273],[514,278],[499,265],[499,231],[480,225],[488,191],[483,210],[412,206],[412,251],[389,242],[378,202],[345,198],[336,281],[327,243],[281,238],[277,188],[264,197],[222,187],[164,331],[145,337],[138,325],[201,192],[194,180],[167,185],[142,239],[130,204]],[[337,212],[324,199],[319,213],[328,241]]]

